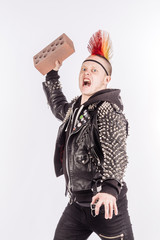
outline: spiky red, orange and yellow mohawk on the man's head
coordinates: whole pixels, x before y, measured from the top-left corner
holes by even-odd
[[[92,35],[87,46],[91,55],[101,55],[110,61],[112,57],[112,42],[109,33],[99,30]]]

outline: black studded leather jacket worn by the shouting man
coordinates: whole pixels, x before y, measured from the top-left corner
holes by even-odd
[[[128,163],[128,121],[123,113],[119,89],[104,89],[80,105],[81,96],[70,103],[62,92],[57,71],[42,83],[59,127],[54,167],[56,176],[66,178],[67,191],[103,191],[116,198]]]

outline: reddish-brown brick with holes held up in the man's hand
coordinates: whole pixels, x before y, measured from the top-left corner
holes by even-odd
[[[34,66],[45,75],[55,67],[56,60],[63,62],[74,52],[72,40],[63,33],[33,57]]]

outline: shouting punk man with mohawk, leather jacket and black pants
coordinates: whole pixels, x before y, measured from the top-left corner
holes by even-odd
[[[43,82],[53,114],[63,121],[54,165],[57,176],[64,174],[70,196],[54,239],[85,240],[95,232],[101,239],[133,240],[123,181],[128,121],[120,90],[107,88],[112,73],[109,35],[99,30],[88,49],[91,55],[79,74],[81,96],[67,102],[59,82],[58,60]]]

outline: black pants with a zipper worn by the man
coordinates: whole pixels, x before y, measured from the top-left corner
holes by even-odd
[[[92,232],[100,239],[134,240],[126,194],[117,200],[118,215],[104,218],[103,208],[93,217],[89,207],[68,204],[57,225],[54,240],[85,240]]]

